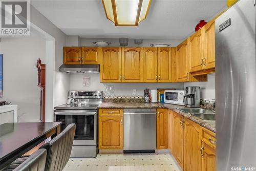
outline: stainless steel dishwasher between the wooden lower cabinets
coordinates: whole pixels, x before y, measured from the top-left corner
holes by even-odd
[[[155,153],[156,109],[123,110],[123,153]]]

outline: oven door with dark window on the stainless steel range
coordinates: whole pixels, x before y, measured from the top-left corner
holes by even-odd
[[[97,111],[96,110],[55,110],[55,121],[62,122],[61,131],[71,123],[76,124],[73,145],[96,145]]]

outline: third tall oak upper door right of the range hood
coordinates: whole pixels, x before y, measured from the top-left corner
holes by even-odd
[[[157,82],[157,48],[143,48],[143,82]]]

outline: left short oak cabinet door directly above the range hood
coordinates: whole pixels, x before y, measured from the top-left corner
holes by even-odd
[[[75,65],[81,63],[81,47],[63,47],[63,64]]]

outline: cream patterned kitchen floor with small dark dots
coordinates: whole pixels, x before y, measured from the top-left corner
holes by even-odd
[[[169,153],[98,154],[96,158],[71,158],[64,171],[179,171]]]

